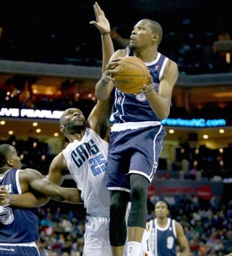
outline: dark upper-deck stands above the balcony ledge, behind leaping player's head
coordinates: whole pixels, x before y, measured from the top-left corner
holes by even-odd
[[[50,19],[46,10],[40,11],[39,5],[38,10],[33,9],[31,13],[30,6],[27,6],[28,11],[24,10],[20,16],[18,13],[8,14],[6,9],[2,19],[8,19],[10,15],[12,23],[0,24],[0,59],[101,67],[100,36],[95,28],[88,24],[92,19],[93,9],[88,3],[82,3],[76,12],[76,6],[71,7],[72,4],[74,3],[62,7],[58,5],[53,19]],[[218,9],[218,5],[213,9],[212,3],[202,3],[201,8],[195,11],[172,12],[170,9],[170,13],[162,14],[157,10],[152,12],[150,6],[143,14],[141,8],[132,10],[134,4],[133,7],[124,2],[122,4],[124,20],[116,23],[118,17],[115,14],[119,6],[111,9],[107,6],[108,3],[103,3],[106,14],[110,15],[111,37],[116,49],[127,46],[133,25],[140,15],[143,15],[143,18],[157,20],[163,26],[164,37],[160,51],[178,63],[180,73],[231,72],[231,65],[225,59],[218,63],[218,50],[214,47],[214,42],[222,38],[222,29],[229,34],[232,32],[231,15],[227,10]],[[133,11],[133,19],[128,19],[127,9]],[[17,22],[17,19],[20,19],[20,22]],[[230,36],[223,38],[229,39]]]

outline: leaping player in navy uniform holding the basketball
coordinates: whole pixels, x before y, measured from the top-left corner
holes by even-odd
[[[161,120],[170,112],[178,66],[158,52],[162,28],[153,20],[140,20],[134,27],[130,44],[111,55],[95,93],[105,100],[113,91],[115,124],[110,130],[107,160],[107,187],[110,189],[110,245],[114,256],[122,256],[127,238],[128,255],[139,256],[147,218],[147,192],[153,179],[166,131]],[[114,86],[111,74],[121,57],[133,55],[150,70],[148,84],[138,95],[124,94]],[[127,227],[127,202],[132,207]]]

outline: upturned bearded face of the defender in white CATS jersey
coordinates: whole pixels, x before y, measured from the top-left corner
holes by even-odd
[[[63,115],[63,125],[65,131],[74,134],[86,128],[86,120],[83,113],[78,108],[69,108]]]

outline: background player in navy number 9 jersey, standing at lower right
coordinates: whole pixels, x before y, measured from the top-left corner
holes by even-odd
[[[147,224],[150,234],[150,245],[153,256],[177,255],[176,247],[179,245],[182,256],[190,256],[190,245],[184,235],[183,226],[169,214],[165,201],[157,201],[155,206],[155,219]]]

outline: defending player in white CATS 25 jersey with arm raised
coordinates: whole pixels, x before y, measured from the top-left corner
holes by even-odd
[[[96,12],[97,9],[94,11]],[[99,16],[96,18],[98,21]],[[109,27],[100,28],[102,31],[110,29]],[[103,52],[104,69],[105,60],[107,62],[110,60],[108,47],[110,53],[113,52],[113,48],[111,48],[110,35],[102,35],[103,44],[108,40],[110,42],[105,45]],[[69,140],[69,144],[54,158],[47,176],[48,180],[60,184],[66,174],[71,174],[77,188],[82,190],[82,201],[88,213],[83,256],[111,255],[110,194],[105,186],[110,113],[110,98],[109,101],[97,102],[88,116],[88,121],[80,109],[66,109],[59,120],[59,125],[60,131]],[[30,200],[28,198],[27,201]],[[14,200],[14,203],[20,204],[19,200],[17,202]]]

